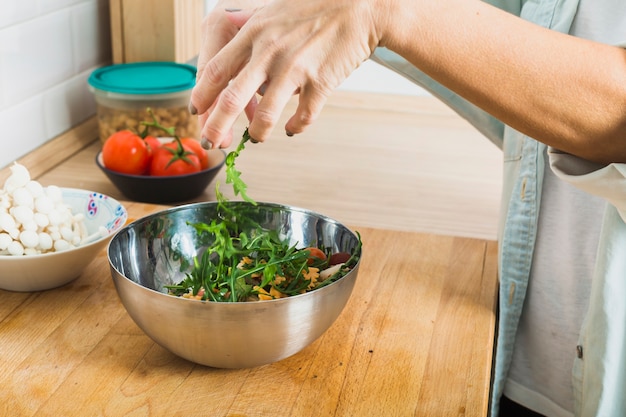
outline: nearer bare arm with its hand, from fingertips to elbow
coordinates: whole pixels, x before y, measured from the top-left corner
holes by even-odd
[[[299,106],[285,128],[301,132],[328,94],[384,46],[537,140],[599,163],[626,162],[621,48],[541,28],[478,0],[276,0],[251,17],[232,15],[242,28],[209,61],[192,97],[205,111],[221,94],[203,130],[215,145],[224,144],[224,132],[263,83],[253,137],[267,138],[293,93]]]

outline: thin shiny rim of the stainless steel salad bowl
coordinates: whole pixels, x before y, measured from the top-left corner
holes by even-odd
[[[244,204],[244,205],[252,205],[252,203],[249,203],[247,201],[243,201],[243,200],[234,200],[234,201],[227,201],[227,204]],[[122,232],[124,229],[130,229],[132,227],[134,227],[135,225],[139,224],[140,222],[145,222],[145,221],[149,221],[152,217],[157,217],[160,215],[164,215],[164,214],[168,214],[171,212],[175,212],[175,211],[182,211],[182,210],[189,210],[189,209],[193,209],[194,207],[197,206],[206,206],[206,205],[217,205],[219,204],[217,201],[203,201],[203,202],[197,202],[197,203],[189,203],[189,204],[182,204],[179,206],[174,206],[174,207],[168,207],[166,209],[163,210],[159,210],[156,211],[154,213],[148,214],[144,217],[138,218],[133,220],[132,222],[126,224],[124,227],[120,228],[118,230],[118,232]],[[358,235],[352,230],[350,229],[348,226],[344,225],[343,223],[341,223],[340,221],[333,219],[331,217],[328,217],[324,214],[320,214],[317,213],[313,210],[310,209],[305,209],[302,207],[297,207],[297,206],[292,206],[292,205],[288,205],[288,204],[281,204],[281,203],[270,203],[270,202],[263,202],[263,201],[257,201],[256,202],[257,206],[267,206],[267,207],[274,207],[274,208],[282,208],[282,209],[287,209],[290,211],[298,211],[301,213],[308,213],[308,214],[313,214],[315,216],[318,216],[319,218],[325,220],[325,221],[329,221],[331,223],[334,223],[338,226],[341,226],[343,228],[345,228],[355,239],[358,239]],[[117,233],[116,233],[117,234]],[[111,255],[110,255],[110,251],[111,251],[111,246],[113,245],[113,240],[115,239],[116,236],[113,236],[113,238],[109,241],[109,243],[107,244],[107,248],[106,248],[106,254],[107,254],[107,260],[109,262],[109,266],[115,270],[115,272],[117,273],[117,275],[119,275],[120,277],[124,278],[124,280],[130,282],[133,285],[136,285],[137,287],[145,290],[145,291],[149,291],[151,293],[155,293],[158,294],[159,296],[164,296],[164,297],[168,297],[168,298],[173,298],[173,299],[181,299],[184,301],[195,301],[195,302],[199,302],[199,303],[208,303],[210,305],[250,305],[250,304],[255,304],[255,305],[267,305],[268,303],[286,303],[289,302],[289,300],[292,299],[299,299],[302,297],[314,297],[315,294],[319,294],[320,292],[325,292],[325,291],[330,291],[327,290],[327,288],[332,288],[335,286],[335,284],[339,284],[340,282],[344,281],[344,278],[346,278],[349,275],[352,275],[353,273],[356,273],[357,270],[359,269],[359,266],[361,265],[361,260],[363,259],[363,248],[361,248],[361,254],[359,256],[359,259],[357,261],[357,263],[354,265],[354,267],[352,268],[352,270],[350,272],[348,272],[346,275],[344,275],[343,277],[339,278],[338,280],[331,282],[328,285],[325,285],[322,288],[318,288],[315,289],[313,291],[307,291],[305,293],[302,294],[297,294],[297,295],[292,295],[289,297],[284,297],[284,298],[275,298],[272,300],[258,300],[258,301],[237,301],[237,302],[218,302],[218,301],[211,301],[211,300],[196,300],[193,298],[183,298],[183,297],[176,297],[173,295],[169,295],[166,294],[162,291],[157,291],[154,290],[152,288],[148,288],[145,285],[141,285],[135,281],[133,281],[132,279],[128,278],[125,274],[123,274],[116,266],[113,265],[113,262],[111,261]],[[116,280],[115,276],[112,277],[113,281]],[[183,301],[183,302],[184,302]],[[235,307],[226,307],[226,308],[235,308]]]

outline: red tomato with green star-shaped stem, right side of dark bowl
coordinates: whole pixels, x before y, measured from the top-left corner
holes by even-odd
[[[200,160],[193,151],[178,142],[161,145],[152,155],[150,175],[173,176],[200,171]]]

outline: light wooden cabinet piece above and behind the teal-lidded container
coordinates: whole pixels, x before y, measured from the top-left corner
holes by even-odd
[[[187,62],[198,54],[203,0],[109,0],[113,63]]]

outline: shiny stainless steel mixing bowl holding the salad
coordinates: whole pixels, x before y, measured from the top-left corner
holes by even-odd
[[[263,227],[300,246],[317,244],[352,252],[358,237],[342,224],[308,210],[278,204],[229,202]],[[201,253],[188,222],[209,223],[217,203],[167,209],[136,220],[111,240],[109,263],[122,304],[137,325],[174,354],[217,368],[249,368],[291,356],[321,336],[346,305],[358,263],[334,283],[271,301],[217,303],[166,294],[185,276],[181,259]],[[181,271],[182,269],[182,271]]]

